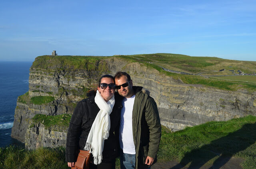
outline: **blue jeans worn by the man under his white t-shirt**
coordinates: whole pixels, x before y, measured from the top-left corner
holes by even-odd
[[[136,155],[126,154],[121,149],[120,151],[120,167],[121,169],[135,169]],[[151,167],[148,167],[150,169]]]

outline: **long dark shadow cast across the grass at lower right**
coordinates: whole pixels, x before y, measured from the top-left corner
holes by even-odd
[[[230,158],[243,151],[256,141],[256,123],[245,124],[241,129],[227,136],[218,138],[207,145],[186,153],[180,164],[170,169],[181,169],[188,165],[188,169],[199,169],[208,161],[213,160],[214,169],[220,169]]]

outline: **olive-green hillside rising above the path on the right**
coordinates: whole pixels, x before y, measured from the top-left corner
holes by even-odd
[[[205,75],[232,75],[228,70],[244,71],[245,73],[256,72],[255,61],[236,61],[221,59],[218,57],[194,57],[172,53],[154,53],[141,55],[122,55],[123,58],[130,58],[141,62],[152,62],[166,69],[183,71],[187,73],[206,72]],[[224,72],[212,72],[226,69]]]

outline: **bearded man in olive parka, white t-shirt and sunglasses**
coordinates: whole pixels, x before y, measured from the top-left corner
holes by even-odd
[[[148,168],[156,162],[161,124],[156,102],[148,91],[133,86],[130,75],[117,72],[116,89],[122,99],[119,142],[121,169]]]

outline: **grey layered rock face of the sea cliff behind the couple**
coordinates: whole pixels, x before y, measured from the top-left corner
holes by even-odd
[[[32,66],[28,98],[52,96],[54,101],[35,104],[31,101],[22,103],[18,99],[12,137],[25,141],[28,148],[64,145],[64,132],[52,133],[57,129],[44,130],[42,124],[29,128],[30,119],[35,114],[72,114],[76,102],[86,96],[88,89],[97,85],[101,75],[114,75],[117,71],[126,71],[131,75],[134,85],[150,90],[150,96],[158,105],[161,124],[173,131],[212,120],[223,121],[256,114],[256,92],[234,92],[188,85],[142,63],[128,62],[116,57],[101,59],[95,67],[90,71],[72,67],[65,69],[56,65],[47,68]]]

